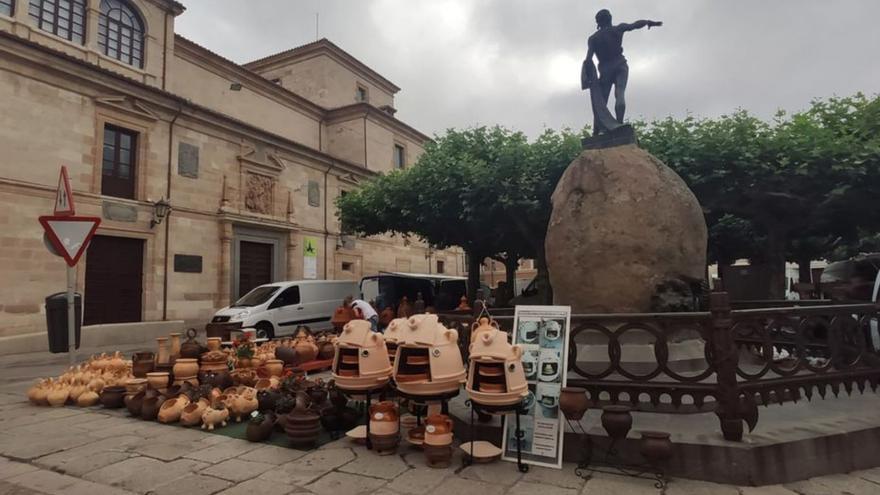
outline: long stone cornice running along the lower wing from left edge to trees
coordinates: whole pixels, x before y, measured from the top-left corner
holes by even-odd
[[[166,114],[163,120],[170,120],[171,115],[182,112],[188,119],[195,122],[213,125],[241,137],[263,141],[281,148],[301,160],[317,162],[317,166],[310,168],[326,170],[329,167],[331,171],[337,173],[349,173],[362,177],[376,175],[376,172],[370,171],[360,164],[329,155],[224,113],[198,105],[161,88],[150,86],[6,31],[0,31],[0,58],[5,60],[19,59],[27,64],[36,64],[47,73],[55,72],[63,78],[76,79],[82,84],[95,86],[98,88],[100,96],[106,97],[108,93],[115,91],[121,95],[147,101],[155,107],[154,110],[157,114],[160,113],[159,110]],[[91,96],[97,98],[99,95]]]

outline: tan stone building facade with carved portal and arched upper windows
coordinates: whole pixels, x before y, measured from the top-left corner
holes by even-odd
[[[0,338],[44,331],[43,299],[64,290],[37,223],[61,165],[77,214],[102,218],[77,266],[87,325],[202,324],[275,280],[463,275],[459,250],[346,236],[336,219],[336,197],[423,152],[397,86],[327,40],[236,64],[175,34],[183,12],[0,0]]]

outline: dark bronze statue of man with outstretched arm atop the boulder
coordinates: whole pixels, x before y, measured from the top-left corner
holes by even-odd
[[[626,82],[629,66],[623,56],[623,33],[643,27],[662,26],[657,21],[636,21],[632,24],[611,24],[611,12],[606,9],[596,14],[598,29],[587,41],[587,58],[581,70],[581,88],[590,90],[593,105],[593,134],[606,133],[623,125],[626,113]],[[599,59],[599,77],[593,65],[593,55]],[[614,87],[614,113],[608,111],[608,98]]]

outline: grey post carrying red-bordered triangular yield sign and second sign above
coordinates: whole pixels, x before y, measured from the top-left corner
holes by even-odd
[[[53,254],[60,255],[67,263],[67,354],[70,365],[76,364],[76,267],[77,262],[88,248],[89,241],[98,230],[101,219],[97,217],[78,217],[73,206],[73,193],[67,178],[67,167],[61,167],[58,178],[58,193],[55,197],[55,214],[39,218],[47,237],[54,248]],[[52,251],[52,250],[50,250]]]

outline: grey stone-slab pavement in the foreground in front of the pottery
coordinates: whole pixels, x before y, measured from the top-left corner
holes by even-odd
[[[450,468],[431,469],[408,447],[378,456],[346,439],[302,452],[147,423],[122,411],[33,407],[21,393],[0,393],[0,495],[125,493],[876,495],[880,468],[759,488],[674,479],[661,491],[648,480],[582,480],[573,465],[520,474],[507,462],[463,468],[456,454]]]

